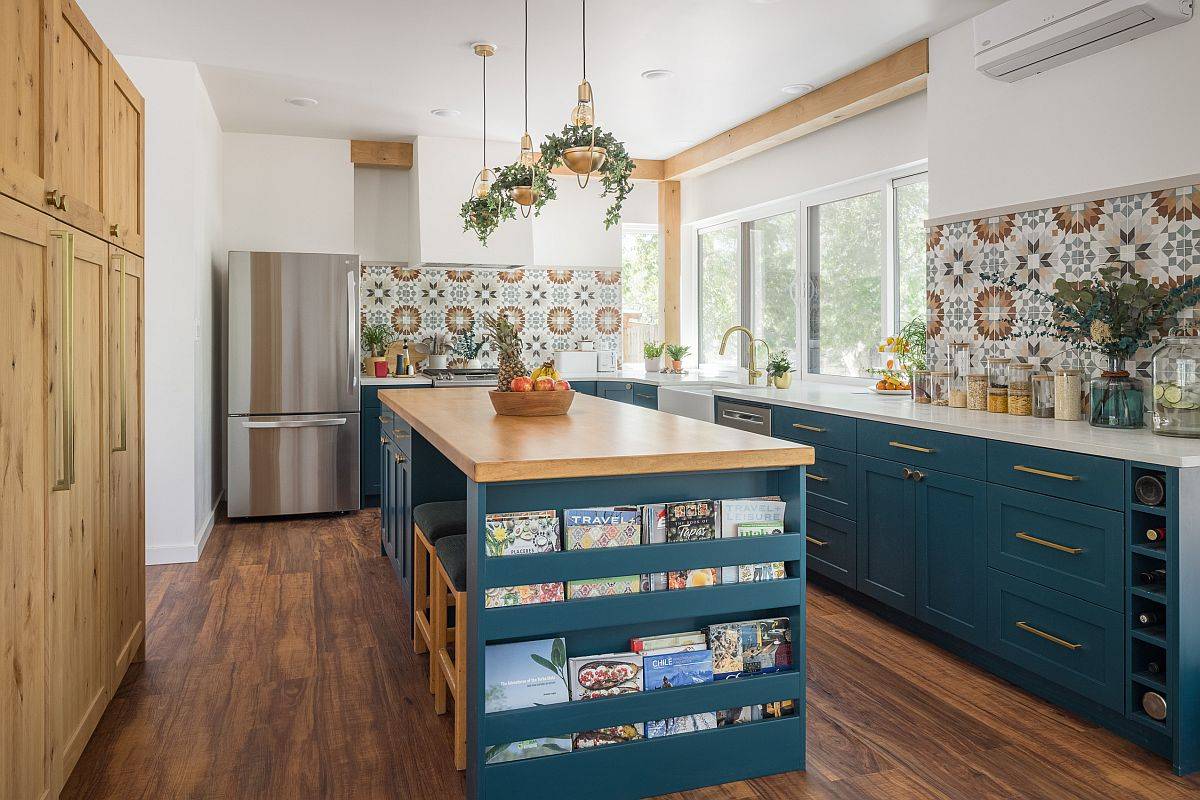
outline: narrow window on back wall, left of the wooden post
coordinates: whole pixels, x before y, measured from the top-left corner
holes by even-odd
[[[624,225],[620,235],[622,356],[642,360],[642,344],[662,338],[658,225]]]

